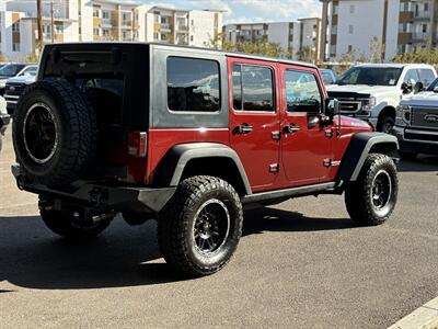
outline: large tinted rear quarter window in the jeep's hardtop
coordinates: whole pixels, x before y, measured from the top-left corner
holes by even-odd
[[[219,64],[207,59],[168,58],[168,106],[176,112],[219,111]]]

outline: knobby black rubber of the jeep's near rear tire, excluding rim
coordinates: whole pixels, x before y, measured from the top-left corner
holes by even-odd
[[[209,200],[219,200],[229,213],[229,234],[211,254],[201,253],[193,238],[196,214]],[[182,181],[158,220],[158,240],[165,261],[191,277],[209,275],[231,259],[242,235],[243,211],[235,190],[226,181],[197,175]]]

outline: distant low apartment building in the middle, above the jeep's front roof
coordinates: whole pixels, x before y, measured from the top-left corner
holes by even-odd
[[[277,43],[285,50],[292,52],[293,59],[300,59],[304,49],[320,58],[321,19],[299,19],[296,22],[228,24],[222,29],[226,42],[267,41]]]

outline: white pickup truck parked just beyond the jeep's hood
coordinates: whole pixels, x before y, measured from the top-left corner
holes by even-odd
[[[350,68],[327,89],[328,95],[339,101],[341,113],[390,133],[400,100],[417,92],[418,81],[427,87],[436,77],[429,65],[366,64]]]

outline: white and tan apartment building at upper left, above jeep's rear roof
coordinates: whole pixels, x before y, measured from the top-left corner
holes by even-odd
[[[220,10],[110,0],[53,0],[50,7],[49,1],[43,1],[44,43],[139,41],[207,46],[221,25]],[[0,52],[20,59],[34,53],[36,46],[36,1],[1,2]]]

